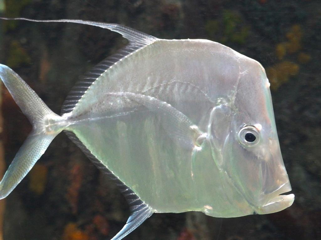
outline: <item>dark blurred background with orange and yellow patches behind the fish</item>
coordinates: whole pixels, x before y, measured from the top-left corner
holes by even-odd
[[[154,214],[125,239],[321,239],[321,1],[5,2],[2,16],[114,22],[159,38],[205,38],[265,67],[294,204],[274,214],[231,219]],[[0,24],[1,63],[56,113],[80,75],[126,44],[106,29],[71,23]],[[2,99],[8,165],[30,125],[4,88]],[[110,239],[129,215],[116,187],[64,134],[5,201],[4,240]]]

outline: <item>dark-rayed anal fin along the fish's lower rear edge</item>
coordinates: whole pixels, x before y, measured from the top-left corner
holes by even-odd
[[[102,172],[113,180],[120,192],[125,196],[127,203],[129,204],[129,210],[131,212],[125,226],[114,236],[111,240],[120,240],[132,231],[134,231],[139,225],[141,225],[147,218],[152,216],[154,210],[145,204],[132,189],[127,187],[121,180],[119,180],[108,168],[97,159],[91,151],[78,139],[78,137],[69,131],[65,131],[67,136],[82,150],[82,152],[99,168]]]

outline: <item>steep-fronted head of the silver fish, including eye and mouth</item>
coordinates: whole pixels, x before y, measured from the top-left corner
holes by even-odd
[[[222,170],[253,213],[281,211],[294,201],[273,114],[269,81],[260,63],[244,57],[232,93]],[[233,200],[231,200],[233,201]]]

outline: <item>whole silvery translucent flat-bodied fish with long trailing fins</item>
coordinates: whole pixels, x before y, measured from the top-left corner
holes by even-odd
[[[230,218],[292,205],[270,83],[256,60],[210,40],[160,39],[119,24],[14,20],[97,26],[128,44],[75,84],[60,115],[0,64],[33,127],[0,182],[1,199],[64,131],[128,202],[131,214],[112,240],[153,213]]]

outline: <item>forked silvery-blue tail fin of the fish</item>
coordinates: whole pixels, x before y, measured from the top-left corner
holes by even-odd
[[[0,182],[0,199],[8,196],[27,175],[50,142],[62,131],[52,130],[49,121],[59,123],[61,116],[53,113],[39,96],[11,68],[0,64],[0,78],[22,112],[28,117],[33,129],[14,157]]]

